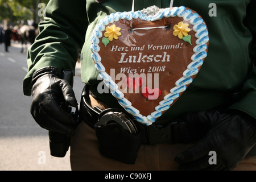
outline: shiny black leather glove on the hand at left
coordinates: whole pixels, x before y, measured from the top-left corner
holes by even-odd
[[[77,107],[77,101],[71,85],[60,77],[61,72],[51,66],[34,73],[30,111],[35,121],[44,129],[72,137],[76,120],[62,106],[67,102],[68,105]]]

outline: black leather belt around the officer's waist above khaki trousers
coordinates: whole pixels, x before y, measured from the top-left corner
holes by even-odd
[[[80,118],[94,129],[94,125],[98,121],[102,110],[98,107],[93,108],[90,106],[88,99],[89,86],[85,86],[82,91]],[[122,112],[128,114],[124,109]],[[141,131],[143,144],[189,143],[202,138],[207,132],[206,127],[184,122],[181,118],[172,119],[166,122],[166,125],[154,123],[150,126],[144,126],[137,122],[137,126],[139,127],[139,131]]]

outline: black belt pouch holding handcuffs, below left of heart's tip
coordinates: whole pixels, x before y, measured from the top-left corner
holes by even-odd
[[[130,134],[118,123],[95,126],[98,147],[102,155],[126,164],[135,164],[141,146],[141,133]]]

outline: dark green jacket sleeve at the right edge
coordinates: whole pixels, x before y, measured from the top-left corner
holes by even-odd
[[[243,21],[249,28],[253,37],[249,46],[249,55],[251,58],[251,71],[249,71],[247,80],[243,84],[241,101],[232,105],[232,109],[241,110],[256,118],[256,1],[251,1],[247,6],[246,17]]]

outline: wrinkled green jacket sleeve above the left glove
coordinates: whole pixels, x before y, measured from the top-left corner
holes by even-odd
[[[85,0],[50,0],[46,17],[39,23],[39,35],[28,48],[28,73],[23,80],[23,93],[31,95],[31,78],[39,68],[48,65],[75,71],[78,51],[85,40],[88,26]]]

